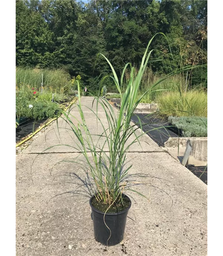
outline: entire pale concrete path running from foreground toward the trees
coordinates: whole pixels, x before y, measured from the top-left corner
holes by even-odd
[[[92,98],[81,101],[86,105],[83,109],[91,133],[100,134],[101,128],[97,129],[96,118],[87,108],[91,108]],[[105,113],[99,111],[106,126]],[[78,118],[75,109],[71,113]],[[59,121],[59,127],[65,127],[64,123]],[[137,173],[147,184],[137,190],[150,194],[150,201],[128,193],[133,196],[132,207],[122,243],[106,247],[95,241],[89,198],[85,186],[77,185],[85,183],[84,171],[70,162],[54,167],[79,153],[58,146],[37,154],[55,144],[74,145],[75,138],[68,132],[61,129],[59,142],[54,122],[46,129],[46,141],[42,133],[16,155],[16,256],[207,255],[207,185],[147,135],[143,141],[148,144],[130,148],[128,164],[133,164],[129,173]],[[85,196],[74,193],[77,188]]]

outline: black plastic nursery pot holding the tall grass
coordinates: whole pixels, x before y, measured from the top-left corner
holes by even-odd
[[[92,196],[90,199],[90,207],[92,209],[94,224],[94,238],[96,239],[96,241],[106,246],[113,246],[119,244],[123,240],[127,214],[132,204],[128,196],[124,194],[123,196],[129,199],[129,206],[121,212],[106,213],[105,216],[104,212],[99,211],[91,204],[94,196]]]

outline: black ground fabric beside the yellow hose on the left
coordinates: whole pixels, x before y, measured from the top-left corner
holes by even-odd
[[[35,122],[35,124],[34,124],[34,131],[35,131],[36,128],[38,128],[39,125],[41,125],[46,120],[47,120],[47,118],[42,119],[42,120],[38,120],[38,121],[29,119],[28,121],[26,121],[22,125],[17,126],[16,132],[15,132],[16,143],[18,141],[20,141],[22,138],[26,137],[28,134],[33,132],[33,124],[34,124],[34,122]]]

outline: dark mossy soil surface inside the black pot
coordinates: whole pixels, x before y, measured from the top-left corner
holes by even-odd
[[[130,205],[130,200],[126,196],[123,198],[118,198],[117,201],[113,203],[113,205],[110,206],[110,204],[105,204],[103,201],[98,201],[96,197],[93,197],[91,200],[91,204],[94,208],[98,209],[101,212],[106,213],[118,213],[125,211]],[[108,209],[109,208],[109,209]],[[108,209],[108,210],[107,210]]]

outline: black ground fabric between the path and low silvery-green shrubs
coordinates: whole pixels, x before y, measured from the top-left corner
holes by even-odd
[[[138,117],[137,117],[138,116]],[[149,135],[160,147],[164,147],[164,143],[169,137],[178,137],[177,134],[168,129],[169,122],[167,119],[162,119],[157,116],[157,113],[132,115],[132,122],[140,127],[139,119],[142,124],[142,130]]]

